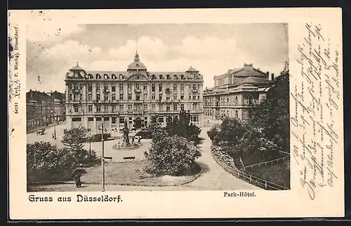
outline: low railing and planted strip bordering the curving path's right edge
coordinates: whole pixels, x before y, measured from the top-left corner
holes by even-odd
[[[290,190],[290,188],[286,188],[283,185],[278,185],[276,183],[272,183],[270,181],[266,181],[262,178],[258,178],[256,176],[252,176],[250,174],[244,173],[243,171],[240,171],[237,169],[237,167],[233,166],[234,163],[230,161],[229,157],[223,155],[223,153],[211,151],[211,154],[213,156],[213,159],[220,165],[220,167],[239,179],[244,179],[244,181],[247,181],[260,188],[264,188],[265,190]],[[226,164],[225,162],[229,163],[230,165]]]

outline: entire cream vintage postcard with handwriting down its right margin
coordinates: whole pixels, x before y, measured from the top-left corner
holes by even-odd
[[[340,8],[10,10],[10,217],[344,216]]]

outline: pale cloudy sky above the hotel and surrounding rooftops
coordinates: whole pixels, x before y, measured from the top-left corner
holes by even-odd
[[[65,91],[65,73],[126,71],[138,50],[148,71],[213,76],[246,64],[278,75],[289,59],[287,24],[65,24],[27,27],[27,91]]]

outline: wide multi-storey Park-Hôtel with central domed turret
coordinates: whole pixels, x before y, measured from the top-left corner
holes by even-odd
[[[196,69],[184,72],[147,71],[138,52],[126,71],[85,71],[78,64],[66,74],[67,128],[83,125],[93,132],[143,127],[157,115],[158,122],[190,110],[201,126],[204,80]]]

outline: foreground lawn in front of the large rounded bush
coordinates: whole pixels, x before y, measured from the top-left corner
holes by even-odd
[[[144,172],[146,161],[106,162],[105,183],[108,185],[140,185],[140,186],[176,186],[189,183],[196,179],[192,176],[148,176]],[[101,183],[101,166],[86,168],[81,182],[87,184]]]

